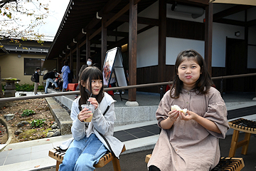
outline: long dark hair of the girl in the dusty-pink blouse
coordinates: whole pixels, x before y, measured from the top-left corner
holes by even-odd
[[[201,68],[201,75],[196,81],[196,87],[194,89],[198,90],[198,93],[206,94],[210,89],[210,86],[213,86],[213,81],[210,78],[210,74],[206,68],[206,62],[204,61],[203,57],[195,50],[187,50],[181,51],[178,54],[176,63],[174,66],[174,80],[173,86],[171,86],[171,98],[179,98],[181,93],[181,89],[183,87],[183,82],[178,78],[178,66],[188,58],[188,60],[194,60]],[[174,92],[174,93],[173,93]]]

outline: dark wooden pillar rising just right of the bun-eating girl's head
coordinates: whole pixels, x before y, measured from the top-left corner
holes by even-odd
[[[212,75],[212,44],[213,44],[213,3],[206,6],[205,23],[205,61],[210,76]]]

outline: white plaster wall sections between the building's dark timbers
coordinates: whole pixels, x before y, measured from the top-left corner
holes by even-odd
[[[218,11],[228,9],[233,5],[230,4],[214,4],[213,11],[217,13]],[[187,21],[203,22],[205,14],[198,19],[193,19],[191,14],[171,11],[171,4],[167,4],[166,16],[173,19],[183,19]],[[256,7],[248,9],[248,21],[256,19],[255,13]],[[149,6],[138,16],[149,17],[152,19],[159,18],[159,1]],[[244,14],[235,14],[233,16],[227,16],[227,19],[235,19],[238,21],[244,20]],[[138,24],[138,30],[143,28],[144,25]],[[118,31],[129,31],[129,24],[125,23],[119,26]],[[240,36],[235,36],[235,32],[240,31]],[[158,27],[144,31],[140,33],[137,37],[137,68],[142,68],[146,66],[156,66],[158,65]],[[226,37],[228,38],[245,38],[245,29],[242,26],[232,26],[228,24],[218,24],[213,23],[213,52],[212,52],[212,66],[213,67],[225,67],[225,48],[226,48]],[[256,44],[256,28],[249,28],[249,44]],[[204,57],[204,41],[189,40],[183,38],[166,38],[166,65],[174,65],[176,61],[176,56],[179,52],[193,48],[201,56]],[[250,48],[250,53],[254,52],[254,48]],[[256,53],[256,52],[255,52]],[[254,59],[252,55],[248,55],[248,63],[252,65]],[[252,66],[250,66],[252,67]]]

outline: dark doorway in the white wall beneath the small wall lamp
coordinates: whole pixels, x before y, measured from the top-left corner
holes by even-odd
[[[247,73],[247,53],[245,40],[226,38],[226,76]],[[226,91],[245,91],[245,78],[226,80]]]

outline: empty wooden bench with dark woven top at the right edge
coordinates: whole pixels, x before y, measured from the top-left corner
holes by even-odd
[[[242,155],[246,155],[248,150],[248,145],[250,142],[250,134],[256,134],[256,122],[252,120],[246,120],[243,118],[232,120],[228,122],[230,128],[234,129],[234,133],[232,135],[230,152],[228,157],[234,157],[235,151],[237,148],[242,147]],[[245,133],[245,139],[238,142],[239,132],[242,131]]]

